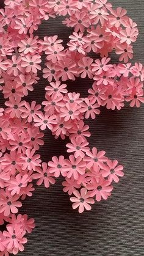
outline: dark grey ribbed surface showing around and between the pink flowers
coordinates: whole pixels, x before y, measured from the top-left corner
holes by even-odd
[[[139,38],[134,44],[135,61],[144,64],[144,2],[143,0],[111,1],[114,7],[128,10],[128,15],[139,26]],[[117,3],[116,3],[117,2]],[[66,42],[71,33],[60,19],[43,23],[37,34],[58,34]],[[112,62],[117,57],[112,58]],[[47,82],[41,79],[27,100],[40,102],[44,99]],[[68,89],[84,96],[92,81],[77,79],[68,82]],[[143,166],[144,166],[144,107],[125,107],[121,111],[101,109],[97,120],[89,120],[92,137],[90,146],[106,150],[111,159],[118,159],[124,166],[124,177],[115,185],[112,197],[95,203],[92,211],[78,214],[72,210],[69,196],[62,191],[62,180],[49,189],[35,187],[34,196],[23,202],[21,213],[35,218],[36,227],[28,235],[23,254],[35,256],[142,256],[143,246]],[[46,131],[45,145],[40,153],[43,161],[53,155],[65,155],[65,142],[55,140]]]

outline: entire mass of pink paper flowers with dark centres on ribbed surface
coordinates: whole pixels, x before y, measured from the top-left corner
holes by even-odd
[[[63,24],[74,28],[67,49],[57,35],[43,40],[33,35],[42,20],[56,15],[67,15]],[[65,177],[63,191],[82,213],[91,210],[95,200],[106,200],[112,182],[123,176],[117,160],[90,149],[84,119],[95,119],[100,106],[120,110],[126,101],[131,107],[144,103],[144,68],[126,64],[138,34],[126,10],[113,10],[107,0],[5,0],[0,10],[0,90],[5,98],[5,108],[0,106],[0,225],[5,222],[6,230],[0,233],[0,256],[23,251],[24,235],[34,228],[34,219],[16,215],[21,200],[32,196],[34,179],[48,188],[60,175]],[[109,64],[112,51],[125,64]],[[91,52],[101,60],[93,60]],[[44,109],[23,100],[39,80],[43,54],[43,78],[48,79]],[[79,76],[94,80],[86,98],[68,92],[63,83]],[[53,156],[41,163],[36,151],[44,144],[42,131],[47,128],[56,139],[69,136],[69,159]]]

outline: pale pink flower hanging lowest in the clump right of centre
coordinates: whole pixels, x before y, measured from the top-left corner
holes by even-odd
[[[72,205],[73,209],[76,209],[77,207],[79,207],[79,213],[82,213],[84,209],[86,209],[87,211],[90,211],[92,209],[89,203],[93,204],[95,203],[95,200],[90,198],[90,192],[89,191],[87,192],[86,188],[81,189],[81,194],[77,190],[74,190],[73,194],[74,196],[76,196],[76,197],[70,197],[71,202],[73,202],[73,205]]]

